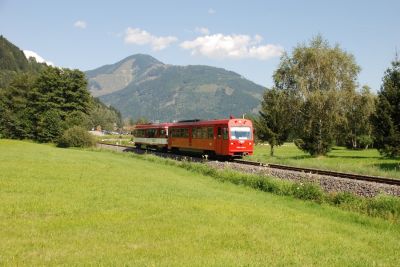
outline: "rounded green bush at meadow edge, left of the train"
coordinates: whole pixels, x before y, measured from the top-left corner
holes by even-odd
[[[94,136],[79,126],[66,130],[57,142],[58,147],[91,147],[95,144]]]

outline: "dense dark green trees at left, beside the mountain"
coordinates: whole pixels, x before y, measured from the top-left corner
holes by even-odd
[[[74,126],[122,127],[121,114],[93,98],[83,72],[43,66],[13,72],[0,88],[0,137],[55,142]]]

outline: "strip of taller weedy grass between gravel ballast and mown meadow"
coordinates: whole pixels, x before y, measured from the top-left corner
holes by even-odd
[[[188,161],[176,161],[159,158],[153,155],[136,155],[133,157],[151,162],[178,166],[192,172],[213,177],[222,182],[244,185],[256,190],[281,196],[328,204],[342,209],[356,211],[369,216],[381,217],[400,223],[400,198],[381,194],[366,198],[348,192],[328,193],[315,183],[293,182],[258,174],[248,174],[232,169],[216,169],[211,166]]]

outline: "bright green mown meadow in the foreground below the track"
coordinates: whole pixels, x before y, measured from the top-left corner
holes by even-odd
[[[0,265],[398,265],[400,227],[124,154],[0,140]]]

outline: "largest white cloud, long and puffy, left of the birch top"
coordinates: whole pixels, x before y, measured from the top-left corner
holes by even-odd
[[[192,41],[180,44],[183,49],[191,50],[192,55],[203,55],[209,58],[256,58],[267,60],[281,56],[284,49],[279,45],[260,45],[262,37],[255,35],[213,34],[197,37]]]

